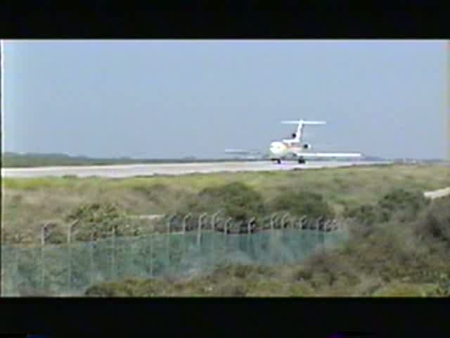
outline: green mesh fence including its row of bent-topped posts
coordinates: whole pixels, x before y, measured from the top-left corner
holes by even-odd
[[[75,220],[67,225],[63,244],[49,241],[53,228],[50,223],[45,223],[41,226],[39,246],[2,246],[4,292],[8,295],[24,294],[25,285],[25,289],[41,290],[39,292],[56,290],[59,294],[80,294],[87,286],[99,281],[180,275],[195,269],[211,268],[227,260],[239,261],[242,257],[253,263],[292,261],[295,257],[300,259],[304,256],[300,251],[311,250],[311,243],[325,248],[328,239],[326,241],[323,236],[327,232],[342,234],[340,237],[345,239],[347,230],[355,221],[271,213],[244,222],[232,217],[219,217],[223,214],[223,211],[200,215],[173,213],[158,220],[162,232],[158,227],[151,227],[148,232],[139,232],[139,236],[133,235],[134,231],[129,232],[130,236],[125,236],[123,231],[119,234],[120,225],[117,223],[108,227],[108,234],[101,236],[97,227],[86,232],[82,230],[82,222]],[[130,227],[129,223],[124,227],[127,225]],[[266,230],[283,231],[277,235],[276,231]],[[77,240],[81,231],[88,241]],[[224,236],[217,237],[219,232]],[[313,236],[304,240],[302,236],[309,234]],[[317,237],[318,234],[323,235]],[[293,238],[297,244],[290,246],[280,238],[286,241]],[[240,239],[245,239],[245,242]]]

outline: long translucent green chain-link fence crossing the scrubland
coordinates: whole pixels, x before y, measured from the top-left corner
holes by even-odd
[[[244,227],[247,234],[230,234],[234,226],[230,220],[224,220],[221,227],[213,221],[209,228],[200,222],[197,229],[186,231],[186,222],[174,222],[172,217],[165,233],[119,237],[113,232],[110,237],[91,242],[72,242],[72,227],[68,227],[68,242],[59,245],[46,244],[49,234],[43,227],[41,246],[2,246],[2,295],[82,295],[98,282],[182,277],[222,263],[297,263],[348,236],[349,220],[335,220],[334,227],[330,222],[328,232],[318,220],[308,223],[304,218],[295,222],[291,219],[290,225],[277,225],[274,217],[267,220],[267,224],[260,224],[264,231],[255,232],[250,221]]]

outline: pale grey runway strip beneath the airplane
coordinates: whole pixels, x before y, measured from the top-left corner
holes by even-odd
[[[165,163],[139,165],[96,165],[71,167],[39,167],[39,168],[2,168],[2,177],[134,177],[153,175],[187,175],[193,173],[237,173],[244,171],[272,171],[314,168],[338,168],[351,165],[386,164],[387,162],[342,162],[342,161],[310,161],[306,164],[285,162],[281,164],[270,161],[261,162],[210,162],[210,163]]]

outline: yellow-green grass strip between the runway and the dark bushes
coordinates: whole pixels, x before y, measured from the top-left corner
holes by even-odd
[[[428,191],[450,186],[449,168],[439,165],[385,165],[292,172],[212,173],[176,177],[5,178],[2,221],[8,241],[38,242],[43,220],[63,220],[86,203],[115,203],[127,214],[172,213],[206,187],[244,182],[265,202],[289,189],[319,193],[337,215],[345,207],[377,201],[395,188]]]

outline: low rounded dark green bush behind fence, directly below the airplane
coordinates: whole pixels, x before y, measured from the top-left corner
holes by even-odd
[[[334,211],[321,194],[304,190],[288,190],[276,196],[269,208],[272,212],[285,211],[295,216],[333,218]]]

